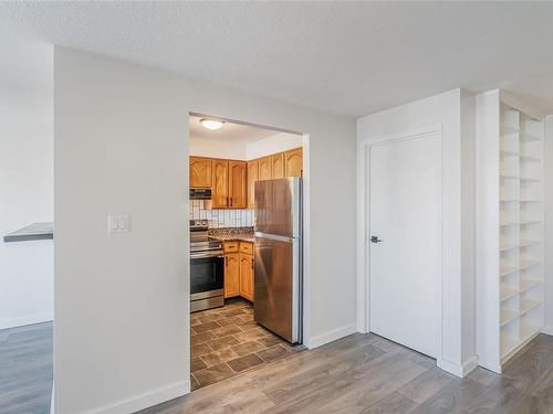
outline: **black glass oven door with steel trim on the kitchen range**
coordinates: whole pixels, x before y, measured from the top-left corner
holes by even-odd
[[[190,299],[221,296],[225,284],[225,256],[221,251],[190,255]]]

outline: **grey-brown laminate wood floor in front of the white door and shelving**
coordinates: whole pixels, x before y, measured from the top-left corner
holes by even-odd
[[[375,335],[352,335],[144,410],[177,413],[553,413],[553,337],[541,335],[502,375],[459,379]]]

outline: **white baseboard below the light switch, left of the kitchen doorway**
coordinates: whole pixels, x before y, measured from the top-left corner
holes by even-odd
[[[131,414],[189,393],[190,380],[187,380],[164,386],[163,389],[147,392],[142,395],[136,395],[116,404],[88,411],[86,414]]]

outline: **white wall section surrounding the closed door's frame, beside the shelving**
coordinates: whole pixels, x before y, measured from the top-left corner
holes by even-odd
[[[465,100],[467,99],[467,100]],[[473,120],[463,119],[463,113],[473,107],[465,92],[453,89],[388,110],[357,119],[357,267],[359,293],[357,320],[361,330],[368,328],[365,314],[365,217],[364,217],[364,142],[400,136],[440,126],[444,132],[444,320],[441,353],[438,364],[456,374],[466,373],[476,359],[474,339],[474,263],[473,252],[466,241],[473,236],[473,178],[463,168],[473,164]],[[473,110],[473,109],[472,109]],[[461,126],[462,123],[466,123]],[[472,123],[472,125],[471,125]],[[472,172],[473,174],[473,172]],[[473,176],[472,176],[473,177]],[[463,201],[463,197],[467,199]],[[471,290],[472,289],[472,290]],[[440,348],[438,347],[438,349]]]

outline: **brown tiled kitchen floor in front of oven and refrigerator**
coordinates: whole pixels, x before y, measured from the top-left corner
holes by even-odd
[[[253,321],[253,307],[244,299],[227,299],[222,308],[195,312],[190,326],[192,391],[304,349]]]

